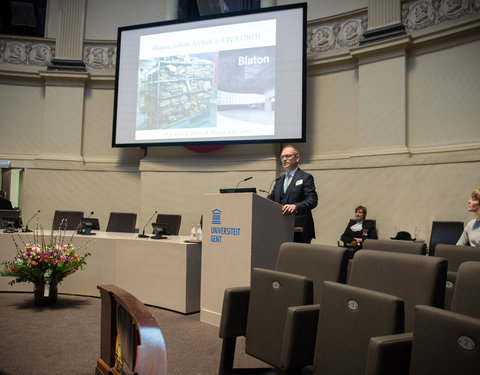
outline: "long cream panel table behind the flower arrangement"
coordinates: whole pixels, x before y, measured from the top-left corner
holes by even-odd
[[[67,231],[69,239],[74,232]],[[50,233],[45,232],[48,239]],[[32,242],[33,235],[15,233],[21,244]],[[200,310],[200,274],[202,248],[186,243],[188,237],[167,239],[137,238],[134,233],[96,232],[94,236],[74,235],[78,248],[88,243],[86,269],[67,276],[59,293],[99,296],[97,285],[114,284],[133,294],[144,304],[184,314]],[[16,254],[11,234],[0,233],[0,261]],[[8,285],[10,277],[0,277],[0,291],[32,291],[31,283]]]

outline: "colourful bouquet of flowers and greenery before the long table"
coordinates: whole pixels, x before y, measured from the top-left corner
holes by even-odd
[[[28,242],[20,235],[17,236],[22,244],[19,245],[12,234],[17,249],[13,261],[1,262],[3,270],[0,275],[15,278],[9,282],[10,285],[19,282],[59,284],[68,275],[83,269],[87,264],[86,258],[90,255],[88,252],[80,255],[72,244],[74,235],[65,241],[65,231],[59,230],[55,234],[52,229],[48,241],[43,230],[35,231],[33,240]]]

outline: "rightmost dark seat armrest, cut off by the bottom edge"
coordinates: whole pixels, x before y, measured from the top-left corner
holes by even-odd
[[[408,375],[412,341],[413,332],[372,337],[365,375]]]

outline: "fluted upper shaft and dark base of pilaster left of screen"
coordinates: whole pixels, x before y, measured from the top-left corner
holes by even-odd
[[[85,71],[83,39],[86,0],[58,1],[58,32],[55,58],[49,70]]]

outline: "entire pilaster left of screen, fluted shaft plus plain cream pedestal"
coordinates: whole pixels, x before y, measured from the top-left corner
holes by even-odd
[[[83,62],[86,0],[55,0],[55,58],[40,71],[45,82],[42,152],[36,164],[83,162],[85,82]]]

